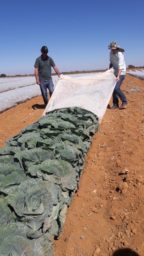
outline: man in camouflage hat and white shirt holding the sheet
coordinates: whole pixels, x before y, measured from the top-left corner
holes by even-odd
[[[126,96],[120,89],[120,86],[126,77],[126,64],[124,61],[124,49],[120,48],[120,46],[117,45],[116,42],[111,42],[111,44],[108,46],[108,49],[110,49],[110,68],[114,68],[115,70],[115,76],[116,76],[116,86],[114,88],[114,92],[112,94],[113,98],[113,106],[111,110],[118,108],[118,97],[122,101],[122,105],[119,107],[120,109],[124,108],[128,101],[126,99]]]

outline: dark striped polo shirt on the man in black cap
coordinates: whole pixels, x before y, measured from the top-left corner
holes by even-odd
[[[42,58],[42,55],[36,59],[34,68],[38,68],[38,79],[46,80],[52,78],[52,68],[56,66],[50,56],[47,56],[46,60]]]

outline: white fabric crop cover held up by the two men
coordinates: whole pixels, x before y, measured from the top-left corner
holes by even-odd
[[[113,69],[82,77],[61,75],[43,115],[55,109],[76,106],[96,114],[100,123],[115,84]]]

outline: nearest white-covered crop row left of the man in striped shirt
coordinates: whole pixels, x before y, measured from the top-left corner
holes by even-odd
[[[39,95],[41,91],[37,84],[2,92],[0,93],[0,113]]]

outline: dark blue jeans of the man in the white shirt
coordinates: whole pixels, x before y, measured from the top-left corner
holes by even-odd
[[[121,86],[121,84],[122,84],[122,82],[123,82],[125,77],[126,77],[125,75],[121,75],[120,76],[120,81],[116,82],[116,86],[115,86],[113,94],[112,94],[113,104],[116,105],[116,106],[118,106],[118,97],[120,98],[122,103],[126,103],[127,102],[126,96],[124,95],[122,90],[120,90],[120,86]]]

